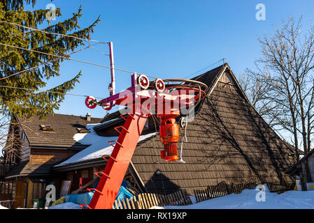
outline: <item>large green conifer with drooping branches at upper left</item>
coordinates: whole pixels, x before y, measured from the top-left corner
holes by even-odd
[[[26,11],[24,10],[26,4],[34,6],[36,0],[1,0],[0,20],[34,29],[43,26],[47,22],[46,14],[49,10]],[[98,17],[90,26],[80,29],[78,20],[82,16],[81,11],[82,9],[79,8],[78,13],[73,13],[73,17],[57,24],[50,25],[48,21],[48,26],[41,29],[48,33],[0,22],[0,43],[67,56],[76,48],[87,43],[83,39],[90,38],[90,33],[99,22]],[[59,8],[55,10],[55,15],[56,17],[61,16]],[[61,33],[77,38],[51,33]],[[51,77],[59,76],[59,68],[64,59],[24,49],[0,45],[0,114],[45,118],[59,108],[65,93],[73,89],[79,82],[81,72],[78,70],[73,79],[55,86],[48,90],[49,92],[27,90],[42,89]],[[27,70],[29,68],[31,69]],[[27,70],[27,72],[14,75],[22,70]],[[12,86],[13,88],[1,86]]]

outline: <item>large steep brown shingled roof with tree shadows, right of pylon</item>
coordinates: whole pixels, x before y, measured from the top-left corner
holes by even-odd
[[[217,82],[224,68],[227,75]],[[187,125],[185,163],[161,160],[163,145],[158,136],[139,144],[132,157],[146,190],[171,193],[181,188],[192,193],[221,181],[292,182],[285,170],[294,163],[293,149],[251,107],[229,66],[224,64],[195,79],[211,86],[211,93]],[[180,142],[177,145],[180,154]]]

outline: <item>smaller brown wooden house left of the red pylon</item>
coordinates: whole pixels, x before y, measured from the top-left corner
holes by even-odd
[[[87,145],[74,141],[73,135],[88,123],[99,121],[101,118],[62,114],[50,116],[46,121],[38,117],[25,121],[13,118],[11,123],[17,124],[10,125],[8,136],[15,139],[19,151],[6,151],[4,162],[11,167],[3,171],[5,183],[2,184],[10,183],[15,208],[31,208],[33,199],[45,197],[46,185],[59,184],[59,176],[55,180],[50,167],[86,148]]]

